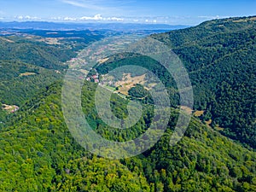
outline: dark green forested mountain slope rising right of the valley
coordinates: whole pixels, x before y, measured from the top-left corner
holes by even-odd
[[[211,119],[212,127],[220,127],[225,136],[253,148],[256,147],[255,31],[255,17],[248,17],[211,20],[151,36],[168,45],[183,61],[193,85],[194,110],[204,110],[201,119]],[[145,67],[156,74],[169,88],[172,106],[178,105],[172,75],[150,58],[128,53],[116,55],[96,69],[106,74],[125,65]]]

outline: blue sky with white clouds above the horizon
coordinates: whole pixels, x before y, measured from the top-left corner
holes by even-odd
[[[0,0],[0,20],[196,25],[256,15],[256,0]]]

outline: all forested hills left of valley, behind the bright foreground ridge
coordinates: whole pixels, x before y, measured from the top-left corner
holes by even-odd
[[[0,29],[0,127],[3,105],[20,107],[63,78],[65,61],[106,32]]]

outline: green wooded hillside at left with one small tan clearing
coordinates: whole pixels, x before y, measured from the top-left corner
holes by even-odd
[[[0,102],[21,105],[47,84],[61,78],[54,70],[20,61],[0,61]]]

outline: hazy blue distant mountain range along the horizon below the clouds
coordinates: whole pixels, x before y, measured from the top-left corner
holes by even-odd
[[[16,29],[47,29],[47,30],[113,30],[113,31],[137,31],[137,30],[176,30],[183,29],[188,26],[178,25],[171,26],[165,24],[134,24],[134,23],[55,23],[55,22],[0,22],[0,28],[16,28]]]

